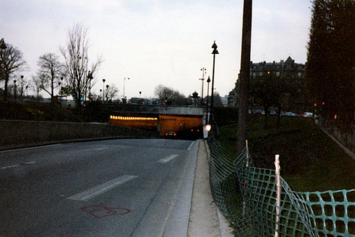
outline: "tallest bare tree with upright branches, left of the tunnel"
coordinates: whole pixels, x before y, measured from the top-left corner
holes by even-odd
[[[75,24],[68,30],[68,41],[66,47],[60,47],[60,51],[65,58],[65,69],[68,83],[72,87],[72,96],[78,107],[81,100],[88,91],[91,78],[103,62],[102,57],[98,56],[97,61],[92,63],[90,74],[88,74],[88,48],[89,40],[87,37],[88,28],[83,24]],[[90,76],[88,76],[90,75]]]

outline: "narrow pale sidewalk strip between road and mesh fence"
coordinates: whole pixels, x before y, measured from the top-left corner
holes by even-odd
[[[195,180],[193,182],[187,236],[234,236],[228,221],[219,212],[209,188],[208,153],[204,140],[199,141]]]

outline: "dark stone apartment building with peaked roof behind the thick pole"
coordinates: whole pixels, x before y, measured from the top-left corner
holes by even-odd
[[[281,60],[280,62],[260,62],[253,63],[250,62],[250,80],[265,80],[268,74],[273,75],[275,79],[285,79],[287,83],[294,85],[296,88],[296,94],[299,95],[295,99],[297,106],[293,105],[293,109],[302,110],[306,106],[306,95],[305,95],[305,70],[306,65],[302,63],[295,63],[291,57],[288,57],[286,61]],[[238,107],[239,99],[239,78],[235,83],[235,88],[229,93],[228,106]],[[258,109],[257,105],[253,103],[253,98],[250,100],[250,109]],[[297,111],[294,111],[297,112]],[[300,112],[300,111],[299,111]]]

